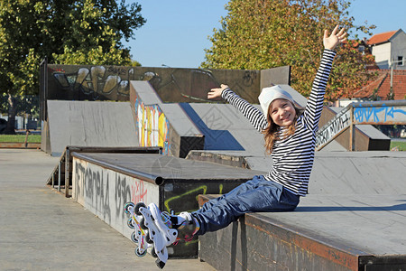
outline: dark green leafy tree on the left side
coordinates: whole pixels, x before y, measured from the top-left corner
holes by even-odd
[[[14,96],[38,94],[39,64],[130,65],[121,42],[134,37],[145,20],[141,5],[125,0],[1,0],[0,93],[9,98],[9,126],[14,132]]]

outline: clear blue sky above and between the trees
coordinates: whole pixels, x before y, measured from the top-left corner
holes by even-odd
[[[127,3],[131,3],[127,2]],[[134,1],[133,1],[134,2]],[[125,42],[143,67],[198,68],[211,47],[208,36],[220,28],[228,0],[138,0],[147,20]],[[376,25],[373,33],[406,32],[406,0],[352,0],[348,9],[355,24]]]

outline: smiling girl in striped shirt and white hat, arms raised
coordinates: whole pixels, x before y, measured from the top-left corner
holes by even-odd
[[[254,176],[233,191],[208,201],[200,210],[166,216],[166,224],[178,230],[178,239],[189,239],[208,231],[223,229],[247,212],[289,211],[299,204],[300,196],[308,192],[309,176],[315,152],[315,133],[323,108],[328,75],[336,55],[337,44],[346,41],[344,29],[338,25],[328,36],[324,32],[324,52],[314,79],[309,102],[301,113],[291,95],[279,86],[264,88],[259,101],[263,113],[246,102],[226,85],[211,89],[208,98],[225,98],[240,110],[254,127],[263,133],[266,151],[272,154],[273,167],[266,175]],[[168,221],[171,221],[168,223]],[[161,220],[158,222],[161,223]]]

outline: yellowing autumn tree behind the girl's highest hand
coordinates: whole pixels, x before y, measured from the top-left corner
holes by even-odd
[[[318,69],[324,29],[335,25],[348,33],[370,33],[372,26],[355,26],[345,0],[230,0],[222,28],[209,37],[206,69],[263,70],[291,66],[291,85],[308,96]],[[355,35],[355,39],[358,37]],[[356,49],[355,42],[337,48],[326,98],[351,96],[369,75],[365,66],[374,59]]]

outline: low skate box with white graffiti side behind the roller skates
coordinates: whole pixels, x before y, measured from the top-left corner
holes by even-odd
[[[198,194],[225,193],[263,172],[161,154],[72,153],[72,197],[130,238],[128,201],[161,210],[198,210]],[[198,256],[198,239],[169,248],[170,257]]]

